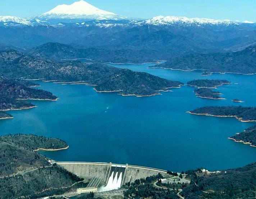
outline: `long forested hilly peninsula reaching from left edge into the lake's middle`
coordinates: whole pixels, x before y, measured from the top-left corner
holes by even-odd
[[[159,90],[166,91],[167,88],[183,85],[181,82],[106,64],[54,61],[14,50],[0,51],[0,73],[6,78],[93,85],[101,92],[118,89],[124,91],[125,95],[134,96],[152,96]]]

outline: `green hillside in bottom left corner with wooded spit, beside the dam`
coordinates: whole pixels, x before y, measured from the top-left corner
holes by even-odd
[[[65,146],[67,143],[62,140],[31,134],[0,136],[0,198],[34,199],[84,186],[82,183],[75,184],[83,179],[51,165],[46,157],[33,152],[38,148]]]

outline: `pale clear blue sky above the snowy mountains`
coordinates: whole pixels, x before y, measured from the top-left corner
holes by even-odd
[[[76,0],[2,0],[0,15],[30,17]],[[157,15],[250,20],[256,22],[256,0],[87,0],[116,14],[151,18]]]

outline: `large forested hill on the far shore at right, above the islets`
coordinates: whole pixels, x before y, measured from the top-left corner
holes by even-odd
[[[255,74],[255,49],[256,46],[249,46],[238,52],[182,55],[149,68],[204,70],[204,75],[211,73]]]

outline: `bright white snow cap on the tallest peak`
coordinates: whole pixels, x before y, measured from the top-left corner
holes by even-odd
[[[58,5],[43,15],[116,15],[109,11],[101,10],[86,1],[76,1],[71,5]]]

